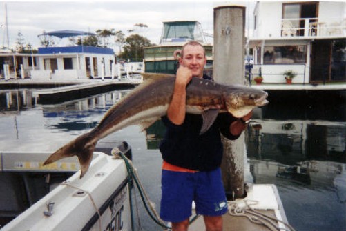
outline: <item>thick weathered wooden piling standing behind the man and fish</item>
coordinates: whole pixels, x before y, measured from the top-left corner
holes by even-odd
[[[245,7],[214,8],[213,78],[219,83],[244,85]],[[244,197],[244,134],[236,141],[222,137],[222,179],[227,199]]]

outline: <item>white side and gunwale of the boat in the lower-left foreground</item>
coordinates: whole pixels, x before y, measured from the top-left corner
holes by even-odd
[[[131,230],[125,163],[94,155],[82,179],[76,172],[1,230]]]

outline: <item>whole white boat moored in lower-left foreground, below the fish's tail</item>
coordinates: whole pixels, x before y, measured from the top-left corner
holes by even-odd
[[[82,179],[75,158],[43,166],[51,152],[0,152],[1,230],[131,230],[128,171],[111,155],[120,152],[131,159],[126,142],[100,142]]]

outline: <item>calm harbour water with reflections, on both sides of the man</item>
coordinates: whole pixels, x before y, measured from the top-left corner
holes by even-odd
[[[97,125],[125,91],[35,105],[30,90],[0,91],[0,150],[53,151]],[[278,187],[296,230],[346,230],[345,102],[320,106],[270,105],[256,110],[245,132],[246,181]],[[106,139],[125,140],[151,200],[160,208],[160,165],[155,147],[162,125],[148,132],[131,126]],[[150,138],[150,139],[149,139]],[[142,205],[137,201],[140,213]],[[160,230],[142,215],[143,230]]]

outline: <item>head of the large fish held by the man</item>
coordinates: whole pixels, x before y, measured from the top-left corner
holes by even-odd
[[[267,105],[268,93],[246,86],[227,86],[224,91],[224,104],[233,117],[241,118],[253,108]]]

